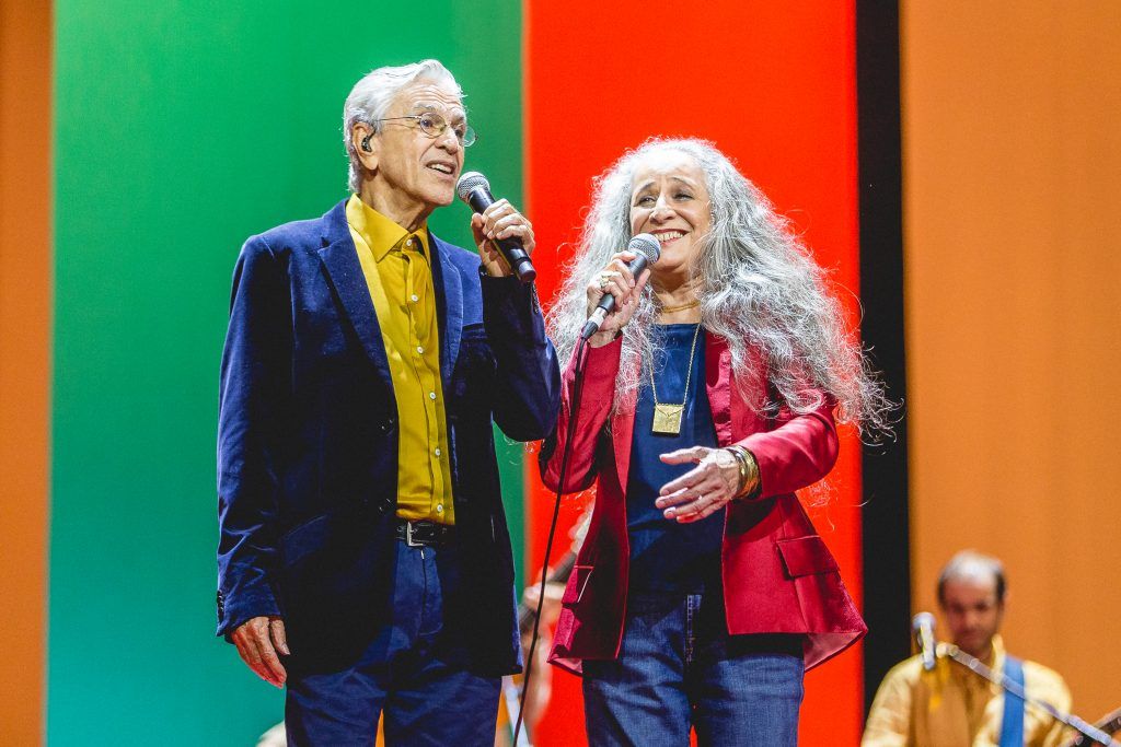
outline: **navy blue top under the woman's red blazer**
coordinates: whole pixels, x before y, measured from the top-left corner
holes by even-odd
[[[705,333],[697,337],[693,375],[686,393],[685,374],[689,347],[697,326],[664,325],[663,353],[655,361],[654,379],[658,401],[680,404],[682,429],[677,436],[655,433],[654,398],[648,363],[642,364],[642,382],[634,412],[630,474],[627,480],[627,529],[630,534],[630,588],[638,591],[697,594],[706,587],[720,590],[720,545],[724,532],[724,510],[691,523],[666,519],[654,502],[661,486],[695,465],[667,465],[659,455],[693,446],[716,447],[716,430],[705,390]]]

